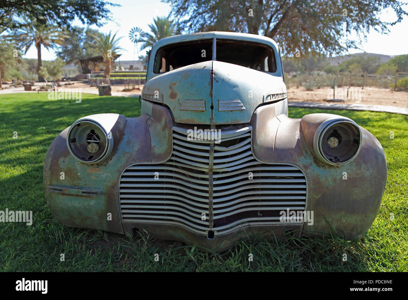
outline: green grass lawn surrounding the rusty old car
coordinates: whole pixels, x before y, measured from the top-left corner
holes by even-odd
[[[381,209],[366,237],[242,241],[223,254],[180,242],[69,228],[51,215],[42,186],[53,139],[94,113],[140,115],[137,98],[82,94],[82,102],[48,100],[47,93],[0,95],[0,210],[33,211],[33,224],[0,223],[1,271],[408,271],[408,116],[289,108],[289,116],[347,116],[384,147],[388,180]],[[18,138],[14,139],[17,131]],[[393,131],[394,138],[390,138]],[[390,214],[394,220],[390,220]],[[64,253],[65,261],[60,261]],[[159,261],[154,261],[155,253]],[[248,254],[253,261],[248,262]],[[343,253],[347,261],[343,261]]]

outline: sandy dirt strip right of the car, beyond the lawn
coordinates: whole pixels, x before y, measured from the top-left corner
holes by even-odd
[[[344,104],[376,104],[389,105],[397,107],[408,107],[408,92],[392,91],[390,89],[382,89],[379,87],[352,87],[350,100],[347,97],[347,87],[337,88],[337,98],[345,99]],[[358,90],[357,90],[358,89]],[[330,97],[329,97],[330,96]],[[333,88],[320,88],[313,91],[306,91],[305,87],[290,87],[288,89],[289,102],[322,102],[328,103],[324,99],[333,99]]]

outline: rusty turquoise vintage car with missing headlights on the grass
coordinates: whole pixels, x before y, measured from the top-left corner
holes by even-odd
[[[361,238],[379,211],[381,144],[342,116],[288,118],[270,38],[163,38],[139,100],[137,118],[86,116],[52,142],[44,190],[58,222],[221,252],[287,232]]]

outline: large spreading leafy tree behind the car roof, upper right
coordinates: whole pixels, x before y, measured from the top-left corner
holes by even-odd
[[[398,0],[164,0],[172,7],[178,31],[233,31],[274,38],[282,53],[341,54],[360,42],[344,38],[354,30],[359,39],[369,30],[389,32],[388,26],[408,15]],[[392,9],[394,22],[380,20]]]

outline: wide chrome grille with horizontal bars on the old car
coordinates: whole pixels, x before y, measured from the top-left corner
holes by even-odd
[[[123,222],[177,224],[200,234],[222,234],[245,225],[285,224],[279,221],[280,211],[306,209],[302,171],[292,164],[257,161],[251,127],[223,127],[220,143],[191,140],[188,129],[173,127],[168,161],[124,171],[119,187]]]

